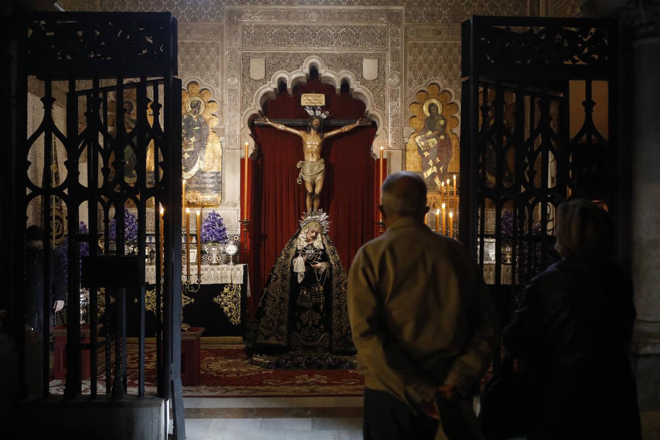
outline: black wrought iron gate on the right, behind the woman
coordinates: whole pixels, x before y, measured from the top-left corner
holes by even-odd
[[[462,44],[461,241],[506,324],[521,284],[558,259],[558,204],[583,197],[616,217],[616,26],[473,16]]]

